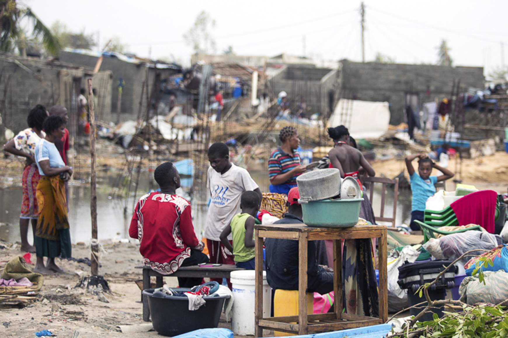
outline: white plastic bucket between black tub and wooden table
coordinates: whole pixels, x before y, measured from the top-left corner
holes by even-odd
[[[254,270],[233,271],[231,273],[233,286],[233,314],[231,328],[235,334],[254,334],[255,305],[256,305],[256,272]],[[270,317],[272,289],[266,281],[266,271],[263,271],[263,317]],[[263,330],[268,334],[269,330]]]

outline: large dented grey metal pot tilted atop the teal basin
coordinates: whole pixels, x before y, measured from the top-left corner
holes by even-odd
[[[306,172],[296,178],[301,201],[321,201],[340,194],[340,170],[327,168]]]

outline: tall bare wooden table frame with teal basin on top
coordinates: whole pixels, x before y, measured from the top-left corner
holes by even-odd
[[[329,332],[348,328],[383,324],[388,320],[387,228],[355,226],[351,228],[314,228],[305,224],[256,225],[256,327],[255,336],[263,336],[263,328],[298,334]],[[298,316],[263,318],[263,238],[298,241]],[[379,238],[379,318],[342,313],[342,239]],[[333,240],[334,313],[307,315],[307,244],[308,241]],[[296,322],[296,323],[295,323]]]

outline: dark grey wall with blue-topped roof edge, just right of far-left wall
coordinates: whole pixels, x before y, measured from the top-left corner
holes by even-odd
[[[93,68],[98,57],[77,54],[72,52],[60,52],[60,60],[77,66]],[[101,70],[110,70],[113,73],[111,83],[111,111],[113,121],[116,120],[118,83],[120,79],[125,82],[122,89],[121,116],[120,120],[135,119],[139,111],[139,103],[143,91],[143,81],[148,74],[148,92],[151,93],[155,74],[161,74],[161,78],[168,78],[175,71],[173,69],[147,68],[144,64],[135,64],[118,60],[116,58],[103,58]],[[143,94],[143,110],[146,110],[146,91]]]

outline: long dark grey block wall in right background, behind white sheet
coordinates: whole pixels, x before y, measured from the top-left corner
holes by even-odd
[[[483,88],[483,67],[446,67],[388,63],[340,62],[340,95],[367,101],[390,102],[391,124],[404,121],[406,93],[420,103],[449,97],[454,80],[460,87]]]

